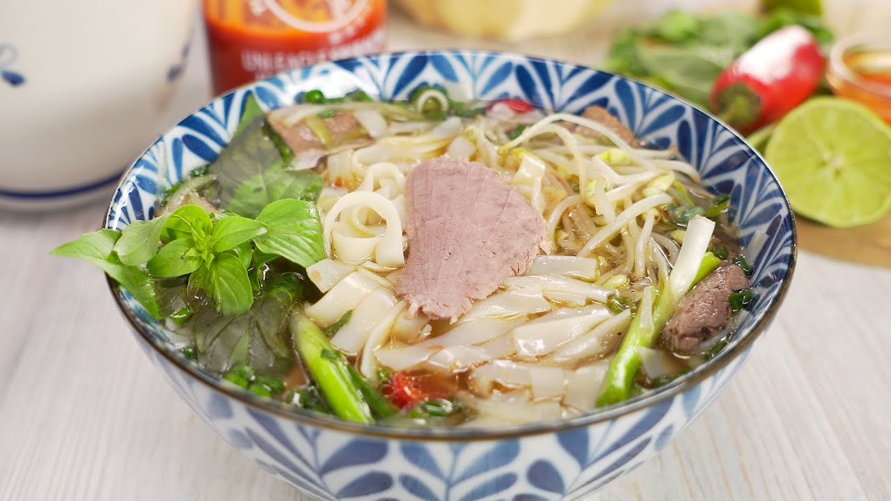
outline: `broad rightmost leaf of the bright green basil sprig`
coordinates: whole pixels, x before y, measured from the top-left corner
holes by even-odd
[[[254,239],[257,250],[275,254],[301,267],[310,267],[325,258],[322,223],[315,204],[285,199],[274,201],[257,216],[269,233]]]

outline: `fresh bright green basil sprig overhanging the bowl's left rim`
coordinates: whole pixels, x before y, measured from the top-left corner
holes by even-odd
[[[284,258],[308,267],[325,257],[315,204],[294,199],[270,203],[256,219],[231,212],[211,217],[184,205],[122,232],[85,234],[52,253],[101,267],[157,318],[160,279],[188,275],[189,288],[204,292],[218,312],[240,315],[254,303],[251,262]]]

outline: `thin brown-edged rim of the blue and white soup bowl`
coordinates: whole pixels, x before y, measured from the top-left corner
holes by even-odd
[[[364,423],[353,423],[348,421],[343,421],[337,417],[329,416],[329,415],[320,415],[317,413],[313,413],[310,411],[304,411],[302,409],[295,409],[294,407],[287,407],[282,402],[278,402],[276,400],[272,400],[269,398],[261,398],[253,393],[250,393],[248,390],[241,389],[240,387],[236,387],[234,385],[227,385],[223,383],[223,380],[220,378],[215,378],[210,374],[204,372],[200,367],[187,360],[184,357],[174,355],[173,349],[170,349],[167,344],[161,341],[157,341],[155,336],[143,325],[143,321],[135,315],[135,311],[131,308],[128,308],[122,299],[122,289],[120,288],[118,283],[115,283],[110,276],[106,275],[106,283],[109,286],[111,295],[114,297],[115,305],[119,308],[120,313],[127,319],[129,322],[131,329],[134,330],[135,333],[139,333],[142,336],[143,341],[146,342],[152,349],[154,349],[161,357],[164,357],[167,362],[181,372],[188,374],[191,376],[193,380],[197,380],[202,384],[208,386],[210,390],[214,390],[217,393],[221,393],[226,398],[234,398],[238,400],[242,404],[251,407],[254,411],[260,411],[268,414],[275,415],[279,418],[282,418],[286,421],[290,421],[294,424],[305,425],[305,426],[314,426],[323,428],[329,431],[339,431],[348,433],[351,435],[358,435],[364,437],[372,437],[377,439],[399,439],[399,440],[415,440],[415,441],[487,441],[487,440],[498,440],[498,439],[521,439],[525,437],[531,437],[535,435],[543,435],[554,432],[564,432],[571,431],[581,427],[587,427],[596,423],[603,423],[615,419],[617,417],[623,415],[630,415],[639,410],[645,409],[647,407],[655,407],[660,403],[664,403],[666,400],[670,398],[674,398],[676,395],[683,393],[686,390],[690,390],[694,386],[698,385],[700,382],[705,381],[713,374],[717,373],[733,360],[736,360],[738,357],[743,355],[748,351],[748,349],[752,346],[752,344],[758,339],[758,337],[764,333],[768,326],[773,321],[773,318],[776,316],[777,311],[781,307],[783,300],[786,299],[786,295],[789,292],[789,284],[792,281],[792,276],[795,273],[795,267],[797,264],[797,224],[795,220],[795,214],[792,211],[791,204],[789,203],[789,197],[786,195],[785,190],[782,189],[782,185],[780,184],[779,178],[773,172],[770,165],[764,160],[764,157],[761,153],[757,152],[754,147],[752,147],[743,136],[740,136],[736,131],[734,131],[731,127],[727,126],[722,120],[715,118],[711,113],[707,111],[701,110],[695,104],[692,104],[683,98],[677,97],[672,94],[667,94],[665,91],[662,91],[653,86],[647,85],[643,82],[635,80],[634,78],[627,78],[621,75],[617,75],[615,73],[611,73],[605,70],[598,70],[591,66],[585,66],[576,62],[567,62],[556,58],[549,57],[539,57],[533,55],[527,55],[522,53],[512,53],[512,52],[503,52],[503,51],[489,51],[489,50],[467,50],[467,49],[429,49],[429,50],[410,50],[410,51],[394,51],[394,52],[384,52],[384,53],[374,53],[368,54],[364,56],[350,57],[346,59],[342,59],[339,61],[353,61],[360,58],[380,58],[380,57],[391,57],[391,56],[404,56],[404,55],[441,55],[441,54],[471,54],[473,56],[493,56],[493,57],[506,57],[515,60],[522,61],[530,61],[530,62],[552,62],[558,63],[560,65],[568,65],[575,68],[581,68],[584,70],[594,70],[601,73],[609,74],[615,78],[622,78],[625,81],[635,85],[635,86],[645,86],[650,88],[651,90],[658,92],[659,94],[665,94],[667,97],[683,103],[689,107],[691,107],[694,111],[699,111],[707,116],[709,119],[715,120],[715,122],[719,123],[727,130],[729,130],[733,136],[738,138],[743,144],[746,144],[752,152],[752,155],[761,161],[764,168],[766,168],[767,173],[773,178],[774,182],[781,188],[782,201],[786,206],[786,209],[789,212],[789,223],[791,230],[791,251],[789,253],[789,267],[785,276],[780,277],[782,280],[780,289],[776,292],[776,296],[771,304],[768,305],[768,308],[760,318],[756,320],[756,323],[752,325],[752,327],[748,330],[748,333],[745,333],[740,338],[732,341],[728,344],[727,348],[722,349],[715,357],[708,360],[706,364],[701,365],[698,369],[691,371],[688,374],[684,374],[681,377],[678,377],[673,382],[663,386],[658,390],[651,390],[642,395],[630,398],[625,402],[620,402],[618,404],[614,404],[609,407],[604,407],[603,409],[598,409],[594,411],[589,411],[586,413],[582,413],[579,415],[571,416],[568,418],[560,418],[560,419],[552,419],[544,422],[534,422],[534,423],[524,423],[519,424],[517,426],[505,426],[505,427],[497,427],[497,428],[462,428],[462,427],[453,427],[453,428],[413,428],[413,427],[401,427],[401,426],[385,426],[376,423],[372,424],[364,424]],[[322,64],[330,64],[331,62],[323,62]],[[276,76],[270,78],[276,78],[283,74],[289,74],[294,71],[307,70],[309,67],[301,68],[298,70],[287,70],[282,73],[279,73]],[[253,82],[249,82],[243,86],[239,86],[225,94],[220,94],[213,97],[208,103],[201,106],[198,110],[201,110],[208,106],[211,103],[217,103],[217,101],[225,98],[225,96],[229,94],[233,94],[234,92],[246,90],[248,88],[252,88],[257,86],[259,82],[264,82],[270,78],[264,78],[260,80],[256,80]],[[186,115],[183,119],[191,117],[196,111],[193,111],[189,115]],[[176,127],[179,127],[180,123],[183,119],[176,122],[172,127],[169,127],[166,131],[164,131],[152,144],[149,148],[146,148],[143,153],[141,153],[136,160],[124,171],[119,179],[119,183],[115,188],[114,193],[118,193],[120,189],[124,186],[125,181],[127,180],[128,174],[131,172],[132,168],[135,167],[135,164],[143,158],[146,152],[151,149],[154,144],[157,144],[164,136],[167,136],[172,130]],[[751,157],[749,157],[751,158]],[[112,195],[111,201],[109,202],[109,208],[106,210],[105,215],[102,219],[102,227],[106,227],[108,216],[110,211],[112,210],[115,203],[115,195]]]

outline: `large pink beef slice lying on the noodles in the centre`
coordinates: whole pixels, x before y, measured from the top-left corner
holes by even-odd
[[[544,248],[544,218],[483,164],[434,159],[406,185],[409,253],[396,294],[411,315],[454,320]]]

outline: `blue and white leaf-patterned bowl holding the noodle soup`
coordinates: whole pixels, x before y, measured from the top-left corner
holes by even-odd
[[[459,98],[526,99],[580,112],[599,104],[659,146],[674,145],[718,193],[754,267],[756,299],[715,358],[661,390],[568,420],[511,429],[415,430],[363,426],[294,411],[222,386],[168,342],[168,332],[112,284],[136,340],[186,402],[261,468],[321,499],[581,499],[666,448],[717,397],[770,324],[789,288],[795,222],[776,177],[748,144],[690,104],[609,73],[522,55],[437,51],[326,62],[241,87],[181,121],[136,160],[111,201],[106,226],[151,218],[168,185],[213,160],[229,141],[245,97],[266,108],[320,88],[361,88],[404,100],[438,84]]]

